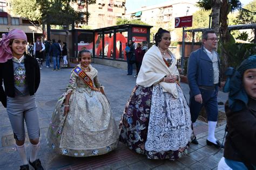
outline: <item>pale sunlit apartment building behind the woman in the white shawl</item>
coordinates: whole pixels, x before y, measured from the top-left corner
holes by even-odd
[[[180,35],[174,31],[174,18],[190,16],[199,10],[196,2],[197,0],[167,1],[158,5],[144,6],[139,10],[126,13],[123,17],[142,20],[154,26],[151,32],[156,32],[159,27],[170,30],[172,40],[176,40]]]

